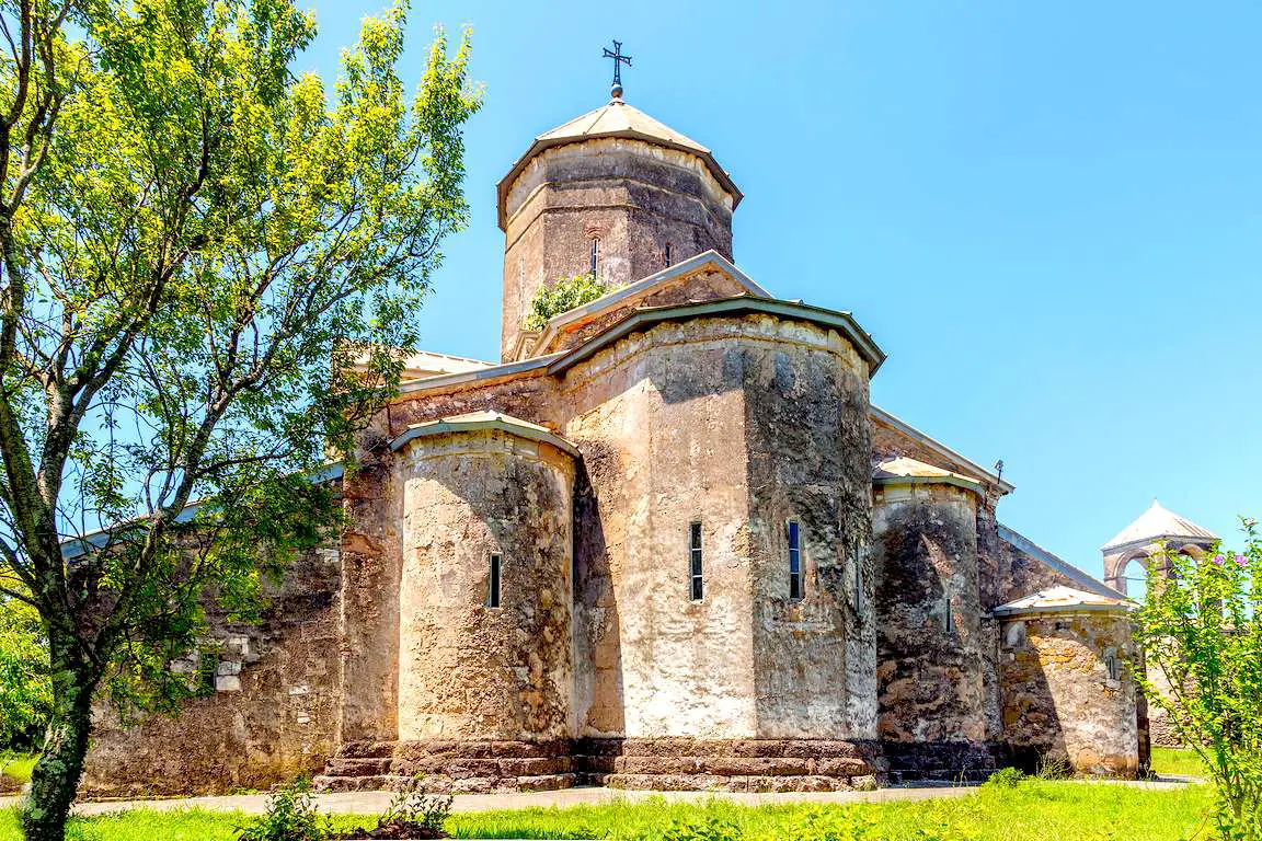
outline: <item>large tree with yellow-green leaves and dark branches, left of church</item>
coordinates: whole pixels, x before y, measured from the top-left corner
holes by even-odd
[[[0,0],[0,595],[53,701],[30,841],[64,837],[93,697],[178,702],[202,601],[257,610],[324,538],[308,477],[415,344],[478,92],[442,33],[405,92],[405,13],[327,90],[292,0]]]

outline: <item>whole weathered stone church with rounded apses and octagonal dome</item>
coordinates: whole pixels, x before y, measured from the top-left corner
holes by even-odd
[[[408,362],[362,468],[321,477],[339,541],[261,624],[212,618],[207,697],[102,715],[87,791],[1146,765],[1122,594],[1005,527],[1000,475],[872,405],[886,354],[851,313],[734,265],[741,190],[709,149],[616,88],[497,195],[500,359]],[[524,327],[588,271],[615,291]]]

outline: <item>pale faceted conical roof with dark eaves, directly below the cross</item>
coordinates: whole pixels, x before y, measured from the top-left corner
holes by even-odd
[[[594,111],[588,111],[581,117],[575,117],[569,122],[557,126],[551,131],[545,131],[544,134],[535,137],[535,141],[530,145],[521,158],[512,165],[509,174],[500,179],[496,184],[496,194],[498,197],[500,206],[500,227],[504,228],[507,224],[505,217],[505,203],[509,197],[509,188],[512,187],[512,182],[517,179],[517,175],[526,168],[530,159],[544,151],[545,149],[551,149],[553,146],[564,146],[572,142],[583,142],[584,140],[597,140],[599,137],[626,137],[628,140],[642,140],[645,142],[654,144],[656,146],[665,146],[666,149],[676,149],[679,151],[687,151],[697,155],[709,169],[714,179],[723,187],[724,190],[732,197],[732,209],[741,203],[742,193],[736,187],[732,177],[718,165],[714,160],[714,155],[709,149],[700,145],[692,137],[679,134],[674,129],[658,122],[650,117],[644,111],[625,103],[622,100],[611,100],[608,105],[602,105]]]

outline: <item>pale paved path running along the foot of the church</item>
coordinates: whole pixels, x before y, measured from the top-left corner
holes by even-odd
[[[1162,779],[1160,782],[1100,782],[1095,784],[1133,786],[1148,789],[1181,788],[1193,779]],[[1093,783],[1084,783],[1093,784]],[[457,794],[453,812],[486,812],[491,809],[521,809],[533,807],[565,807],[599,804],[611,801],[642,801],[664,797],[668,801],[697,802],[724,799],[747,806],[770,803],[880,803],[885,801],[925,801],[945,797],[967,797],[974,788],[969,786],[900,786],[875,792],[791,792],[791,793],[732,793],[732,792],[637,792],[615,788],[567,788],[558,792],[529,792],[512,794]],[[339,792],[317,794],[316,802],[326,815],[380,815],[390,804],[391,792]],[[266,794],[236,794],[230,797],[189,797],[151,801],[102,801],[80,803],[77,815],[103,815],[126,809],[186,809],[202,808],[217,812],[249,812],[257,815],[266,808]],[[18,804],[15,797],[0,797],[0,809]]]

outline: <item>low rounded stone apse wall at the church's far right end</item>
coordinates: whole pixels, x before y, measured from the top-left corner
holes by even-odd
[[[1032,770],[1044,758],[1080,774],[1135,777],[1136,662],[1124,613],[1044,613],[1002,623],[1002,705],[1011,758]],[[1106,657],[1119,664],[1111,680]]]

